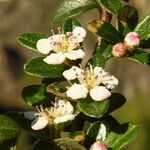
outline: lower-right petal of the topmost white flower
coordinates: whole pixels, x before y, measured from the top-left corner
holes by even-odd
[[[66,53],[66,57],[70,60],[81,59],[85,56],[85,52],[82,49],[72,50]]]

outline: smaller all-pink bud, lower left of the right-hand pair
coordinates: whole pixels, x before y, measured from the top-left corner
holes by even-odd
[[[123,43],[117,43],[113,46],[112,55],[114,57],[122,57],[126,54],[126,47]]]

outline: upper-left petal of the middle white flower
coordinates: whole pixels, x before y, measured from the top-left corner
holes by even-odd
[[[66,70],[63,72],[63,76],[67,79],[67,80],[74,80],[77,78],[77,75],[81,74],[82,69],[73,66],[70,69]]]

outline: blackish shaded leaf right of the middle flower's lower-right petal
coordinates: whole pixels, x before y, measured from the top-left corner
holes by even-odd
[[[122,94],[113,93],[109,99],[109,108],[108,112],[112,112],[121,106],[123,106],[126,102],[126,98]]]

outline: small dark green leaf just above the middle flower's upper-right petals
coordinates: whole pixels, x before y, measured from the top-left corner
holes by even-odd
[[[93,66],[100,66],[102,68],[106,66],[106,59],[101,53],[93,55],[91,61]]]

